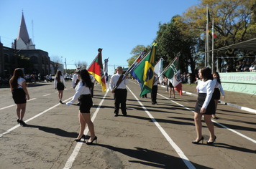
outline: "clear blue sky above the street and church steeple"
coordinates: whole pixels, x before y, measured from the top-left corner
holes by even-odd
[[[24,19],[29,38],[36,49],[49,57],[65,58],[68,69],[75,62],[91,64],[103,48],[103,60],[109,57],[109,74],[114,67],[128,67],[130,52],[138,44],[151,45],[158,24],[169,22],[198,0],[0,0],[0,37],[11,47]],[[33,31],[32,31],[33,21]],[[33,38],[34,34],[34,38]]]

